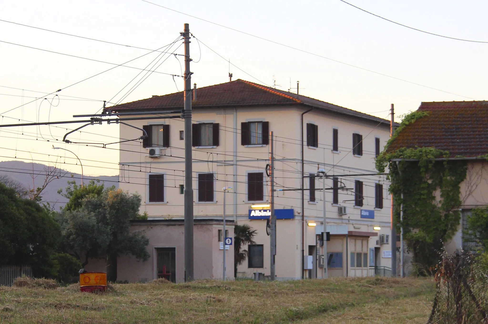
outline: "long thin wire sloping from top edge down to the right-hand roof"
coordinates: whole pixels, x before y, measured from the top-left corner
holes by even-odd
[[[449,91],[445,91],[445,90],[437,89],[437,88],[434,88],[434,87],[429,87],[429,86],[427,86],[427,85],[423,85],[423,84],[420,84],[420,83],[417,83],[417,82],[408,81],[408,80],[406,80],[406,79],[402,79],[402,78],[399,78],[399,77],[396,77],[396,76],[390,76],[390,75],[387,75],[387,74],[385,74],[385,73],[376,72],[376,71],[373,71],[373,70],[370,70],[370,69],[366,69],[366,68],[363,68],[363,67],[360,67],[360,66],[357,66],[357,65],[354,65],[354,64],[350,64],[350,63],[342,62],[342,61],[339,61],[339,60],[334,59],[334,58],[325,57],[325,56],[323,56],[323,55],[316,54],[316,53],[313,53],[313,52],[309,52],[309,51],[306,51],[306,50],[302,50],[302,49],[300,49],[300,48],[293,47],[293,46],[291,46],[291,45],[286,45],[286,44],[284,44],[284,43],[280,43],[280,42],[277,42],[277,41],[274,41],[274,40],[271,40],[271,39],[268,39],[268,38],[263,38],[263,37],[260,37],[260,36],[257,36],[257,35],[249,34],[249,33],[243,32],[243,31],[241,31],[241,30],[238,30],[238,29],[235,29],[235,28],[232,28],[232,27],[227,27],[227,26],[221,25],[221,24],[219,24],[219,23],[216,23],[216,22],[213,22],[213,21],[210,21],[210,20],[206,20],[206,19],[202,19],[202,18],[199,18],[199,17],[196,17],[196,16],[189,15],[189,14],[185,14],[184,12],[181,12],[181,11],[178,11],[178,10],[171,9],[171,8],[168,8],[168,7],[162,6],[162,5],[160,5],[160,4],[154,3],[154,2],[150,2],[150,1],[147,1],[147,0],[141,0],[141,1],[144,1],[144,2],[147,2],[147,3],[150,3],[150,4],[153,4],[153,5],[155,5],[155,6],[158,6],[158,7],[161,7],[161,8],[167,9],[167,10],[171,10],[171,11],[177,12],[177,13],[179,13],[179,14],[182,14],[182,15],[185,15],[185,16],[188,16],[188,17],[192,17],[192,18],[195,18],[195,19],[199,19],[199,20],[202,20],[202,21],[205,21],[205,22],[208,22],[208,23],[214,24],[214,25],[216,25],[216,26],[220,26],[220,27],[223,27],[223,28],[226,28],[226,29],[229,29],[229,30],[232,30],[232,31],[235,31],[235,32],[241,33],[241,34],[244,34],[244,35],[248,35],[248,36],[251,36],[251,37],[254,37],[254,38],[259,38],[259,39],[262,39],[262,40],[265,40],[265,41],[268,41],[268,42],[271,42],[271,43],[274,43],[274,44],[277,44],[277,45],[280,45],[280,46],[284,46],[284,47],[287,47],[287,48],[293,49],[293,50],[295,50],[295,51],[300,51],[300,52],[302,52],[302,53],[306,53],[306,54],[313,55],[313,56],[316,56],[316,57],[325,58],[325,59],[327,59],[327,60],[330,60],[330,61],[333,61],[333,62],[336,62],[336,63],[340,63],[340,64],[344,64],[344,65],[347,65],[347,66],[350,66],[350,67],[353,67],[353,68],[356,68],[356,69],[360,69],[360,70],[363,70],[363,71],[366,71],[366,72],[374,73],[374,74],[377,74],[377,75],[380,75],[380,76],[386,76],[386,77],[389,77],[389,78],[392,78],[392,79],[395,79],[395,80],[399,80],[399,81],[407,82],[407,83],[414,84],[414,85],[417,85],[417,86],[420,86],[420,87],[424,87],[424,88],[427,88],[427,89],[432,89],[432,90],[436,90],[436,91],[444,92],[444,93],[449,94],[449,95],[457,95],[457,96],[460,96],[460,97],[463,97],[463,98],[468,98],[468,99],[471,99],[471,100],[476,100],[476,99],[471,98],[471,97],[468,97],[468,96],[466,96],[466,95],[458,95],[458,94],[455,94],[455,93],[452,93],[452,92],[449,92]]]

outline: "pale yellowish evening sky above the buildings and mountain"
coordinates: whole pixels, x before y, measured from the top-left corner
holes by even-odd
[[[407,29],[340,0],[148,1],[5,1],[0,19],[10,22],[0,21],[0,124],[73,120],[74,114],[96,113],[103,100],[129,102],[181,91],[182,57],[169,53],[156,73],[130,89],[145,73],[134,67],[143,69],[163,55],[150,50],[173,44],[169,52],[183,54],[178,40],[183,23],[201,41],[190,44],[192,83],[198,87],[228,81],[230,69],[233,79],[282,90],[300,81],[301,95],[382,118],[394,103],[397,120],[422,101],[487,99],[488,43]],[[348,2],[430,33],[488,42],[486,1]],[[119,66],[95,76],[116,66],[108,63],[136,57],[126,64],[133,68]],[[235,66],[229,68],[228,60]],[[67,129],[78,126],[0,128],[0,161],[56,164],[80,173],[76,154],[87,175],[118,174],[117,144],[94,148],[61,141]],[[68,139],[118,141],[117,125],[82,131]]]

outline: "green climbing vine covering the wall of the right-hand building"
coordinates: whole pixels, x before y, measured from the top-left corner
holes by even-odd
[[[452,238],[458,228],[461,219],[460,184],[467,173],[466,161],[449,160],[447,151],[433,147],[388,150],[407,125],[427,114],[407,114],[385,150],[376,158],[377,170],[388,170],[389,191],[395,201],[393,214],[397,233],[403,227],[413,262],[424,267],[438,263],[443,242]],[[446,160],[436,161],[436,158]],[[403,221],[400,223],[402,205]]]

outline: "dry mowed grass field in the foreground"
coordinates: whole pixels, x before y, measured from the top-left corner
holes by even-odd
[[[0,286],[0,323],[425,323],[429,278]]]

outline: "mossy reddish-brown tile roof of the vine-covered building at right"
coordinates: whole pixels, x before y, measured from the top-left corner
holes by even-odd
[[[435,147],[450,157],[488,153],[488,101],[422,102],[429,114],[408,125],[388,148]]]

